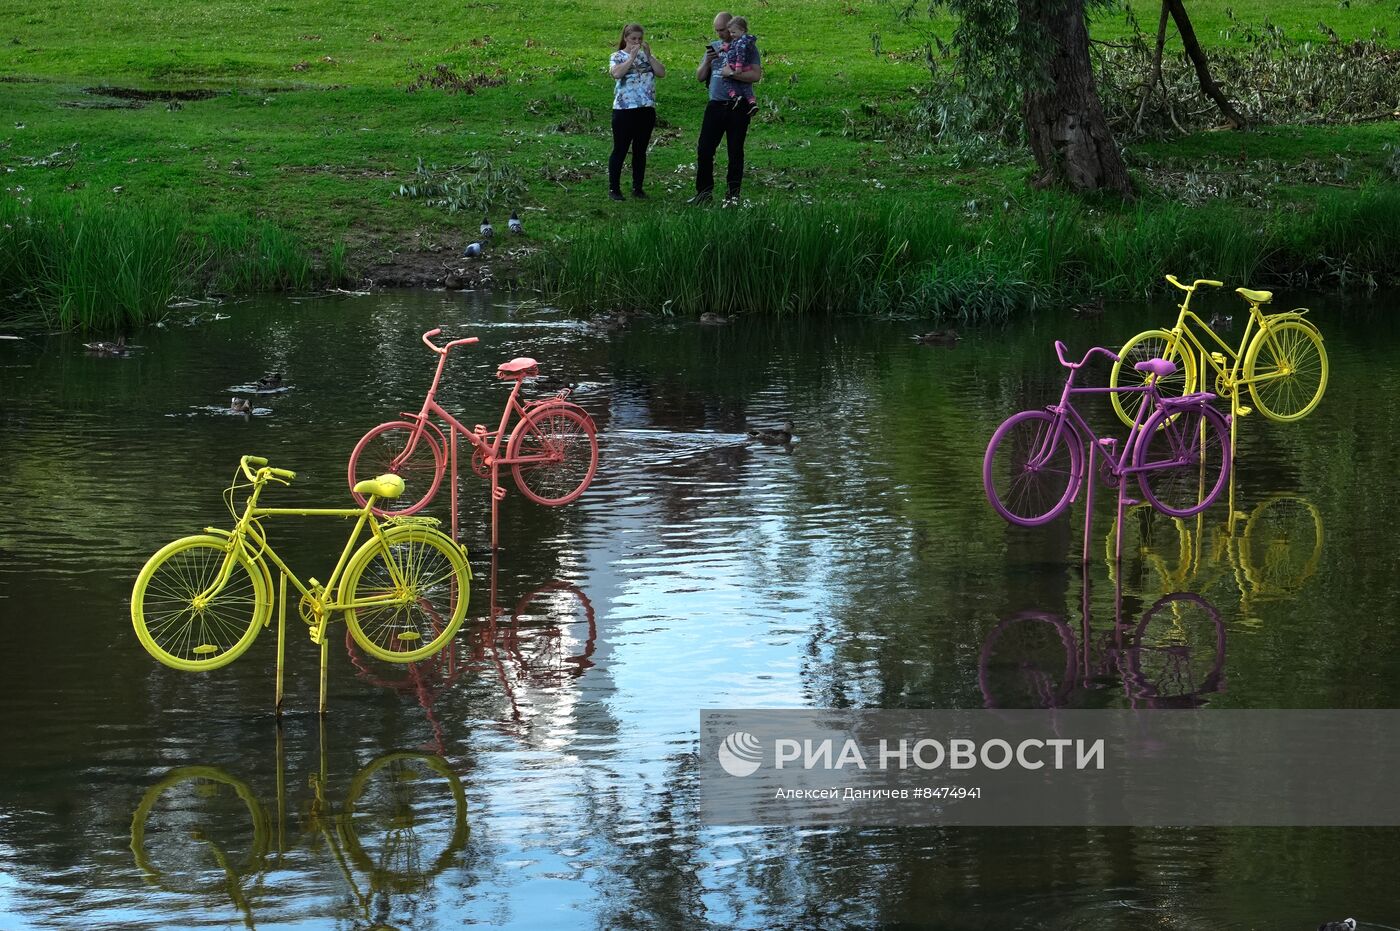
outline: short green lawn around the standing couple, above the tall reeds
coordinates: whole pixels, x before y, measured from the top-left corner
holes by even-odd
[[[874,204],[875,213],[951,214],[960,225],[969,202],[976,202],[974,227],[986,223],[991,206],[1009,203],[1005,228],[994,234],[1037,225],[1043,197],[1026,188],[1023,154],[939,148],[917,137],[907,113],[916,102],[911,88],[927,83],[920,50],[932,34],[946,38],[951,24],[900,21],[902,6],[766,0],[748,11],[764,49],[766,80],[759,85],[764,111],[749,136],[746,195],[774,216],[788,206],[818,206],[840,217],[857,204]],[[1151,4],[1145,8],[1142,25],[1152,29],[1155,14]],[[1343,39],[1371,38],[1393,21],[1394,0],[1210,0],[1193,1],[1190,10],[1211,49],[1239,45],[1239,22],[1266,18],[1296,41],[1319,41],[1319,21]],[[462,181],[494,178],[496,190],[503,189],[501,178],[518,179],[524,190],[497,197],[496,218],[508,206],[524,207],[532,242],[563,263],[556,272],[574,269],[573,281],[585,267],[580,256],[603,260],[594,244],[599,231],[665,227],[689,242],[711,231],[708,220],[673,216],[693,185],[704,102],[693,69],[711,15],[713,8],[689,1],[637,8],[580,0],[543,8],[528,0],[426,0],[391,13],[325,0],[113,0],[101,7],[0,0],[3,197],[77,193],[91,206],[137,209],[174,203],[199,241],[203,258],[196,267],[207,273],[206,283],[224,290],[305,287],[322,274],[343,280],[395,252],[458,249],[472,238],[477,217],[465,206],[451,213],[437,206],[442,197],[398,196],[424,164],[456,171]],[[612,84],[603,67],[617,28],[638,17],[672,74],[659,85],[662,123],[648,171],[652,200],[613,204],[605,197]],[[1093,34],[1117,39],[1126,29],[1121,11],[1105,11]],[[409,92],[438,64],[462,78],[500,84],[475,94],[433,87]],[[102,85],[214,95],[172,102],[90,92]],[[1212,206],[1242,231],[1274,228],[1280,209],[1309,214],[1323,210],[1334,190],[1394,183],[1400,161],[1386,148],[1394,141],[1393,123],[1364,123],[1133,143],[1134,172],[1161,196],[1149,193],[1145,207],[1089,209],[1077,223],[1091,227],[1072,234],[1092,238],[1092,224],[1100,223],[1170,225],[1169,216],[1141,214],[1170,202]],[[1338,158],[1345,161],[1340,179]],[[468,185],[468,200],[475,190]],[[897,204],[881,206],[886,202]],[[959,274],[988,281],[1029,276],[1021,263],[1043,260],[1014,242],[997,246],[960,258],[966,267]],[[878,244],[861,248],[885,255]],[[1270,248],[1268,239],[1239,245],[1245,253]],[[1148,260],[1141,246],[1123,249],[1116,262]],[[570,252],[577,256],[570,259]],[[892,272],[881,270],[879,258],[861,267],[876,274],[875,284],[862,294],[892,287]],[[1249,255],[1236,265],[1247,266]],[[1126,273],[1114,274],[1096,284],[1110,287]],[[805,294],[834,287],[840,277],[822,284],[816,273],[804,272],[798,284]],[[923,287],[928,305],[951,302],[938,297],[944,284],[930,280]],[[8,279],[0,288],[15,290]]]

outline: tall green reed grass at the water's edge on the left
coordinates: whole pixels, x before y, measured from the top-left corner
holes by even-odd
[[[111,333],[206,287],[245,294],[349,277],[343,241],[314,263],[298,238],[246,216],[196,221],[167,200],[0,196],[0,321]]]

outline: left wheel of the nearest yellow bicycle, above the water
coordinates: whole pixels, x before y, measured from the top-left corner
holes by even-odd
[[[132,626],[146,651],[174,669],[207,672],[244,654],[272,616],[266,568],[239,552],[228,578],[228,540],[186,536],[155,552],[132,588]]]

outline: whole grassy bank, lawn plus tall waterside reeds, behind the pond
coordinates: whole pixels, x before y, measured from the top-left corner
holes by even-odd
[[[1329,228],[1327,217],[1351,209],[1345,204],[1365,203],[1371,188],[1400,179],[1393,119],[1361,113],[1338,123],[1350,116],[1338,118],[1331,105],[1310,115],[1298,109],[1306,102],[1284,101],[1270,105],[1274,123],[1245,133],[1134,137],[1126,154],[1142,200],[1078,206],[1028,190],[1029,165],[1019,153],[935,140],[923,94],[924,49],[935,36],[948,38],[951,24],[900,18],[902,6],[764,0],[743,10],[760,36],[767,77],[745,185],[756,211],[735,220],[680,206],[693,183],[704,94],[687,73],[713,14],[690,0],[650,8],[589,0],[547,10],[528,0],[426,0],[393,11],[328,0],[113,0],[101,10],[76,0],[43,8],[0,0],[0,21],[7,24],[0,35],[0,200],[32,199],[27,209],[49,218],[69,207],[48,204],[69,196],[81,197],[85,211],[122,211],[133,232],[148,230],[151,239],[140,248],[148,256],[140,265],[146,270],[134,279],[125,273],[126,280],[175,279],[176,293],[301,287],[323,274],[318,267],[333,277],[342,269],[365,272],[414,255],[441,269],[441,258],[475,237],[479,210],[500,221],[512,207],[525,217],[528,244],[546,253],[532,267],[575,304],[658,308],[671,300],[672,309],[699,308],[699,272],[687,281],[675,270],[689,267],[694,249],[728,249],[722,235],[715,239],[722,227],[745,224],[757,235],[774,220],[790,224],[785,235],[804,244],[802,262],[843,270],[788,272],[756,249],[743,270],[734,265],[742,262],[739,253],[725,252],[724,267],[738,269],[742,281],[722,300],[713,298],[718,305],[738,307],[748,294],[748,309],[847,309],[853,301],[946,309],[969,305],[967,293],[955,297],[949,290],[959,280],[979,284],[977,295],[990,290],[1008,301],[1040,294],[1022,281],[1042,280],[1036,256],[1050,252],[1036,244],[1044,230],[1054,231],[1056,242],[1074,241],[1085,251],[1092,252],[1084,244],[1124,251],[1112,262],[1086,252],[1075,259],[1067,277],[1077,288],[1138,287],[1155,276],[1161,242],[1193,238],[1196,217],[1228,232],[1231,249],[1242,256],[1231,267],[1254,274],[1340,259],[1345,265],[1330,280],[1362,281],[1400,259],[1357,248],[1338,225],[1329,235],[1319,232]],[[1155,22],[1149,14],[1148,27]],[[1229,71],[1239,81],[1256,80],[1249,69],[1260,60],[1331,42],[1330,35],[1340,43],[1379,36],[1392,50],[1400,39],[1378,32],[1393,20],[1392,0],[1200,0],[1191,14],[1208,50],[1257,52],[1242,24],[1268,21],[1282,31],[1268,32],[1263,59],[1239,59],[1239,69]],[[662,122],[648,171],[652,200],[613,204],[605,196],[612,84],[603,67],[616,28],[631,18],[648,27],[652,49],[672,74],[659,91]],[[1133,27],[1123,10],[1109,11],[1093,35],[1121,43]],[[1169,55],[1180,55],[1175,36]],[[1176,74],[1179,63],[1173,67]],[[1369,62],[1358,70],[1375,73]],[[1281,74],[1323,80],[1316,76],[1326,73]],[[1278,78],[1259,74],[1259,87],[1287,84]],[[1347,90],[1322,88],[1319,99],[1350,99]],[[1197,108],[1187,104],[1168,116],[1193,129],[1207,118],[1190,122],[1187,109]],[[1121,111],[1121,101],[1113,108]],[[137,221],[143,211],[160,223]],[[925,218],[900,216],[906,213]],[[172,235],[175,221],[179,235]],[[819,242],[823,224],[843,223],[862,230],[858,244]],[[1162,230],[1151,248],[1140,227]],[[1315,234],[1299,241],[1299,230]],[[657,237],[692,251],[648,252],[645,242]],[[42,242],[53,251],[29,246],[29,258],[0,265],[0,301],[14,293],[41,295],[50,314],[69,319],[52,308],[85,298],[63,298],[77,286],[63,286],[70,279],[55,267],[87,267],[122,280],[112,267],[92,265],[118,252],[69,248],[69,241],[46,232]],[[904,241],[904,252],[888,253],[895,248],[889,242]],[[603,242],[624,258],[610,256]],[[955,258],[939,258],[949,248]],[[1212,258],[1225,260],[1224,252]],[[1351,255],[1361,258],[1345,258]],[[1119,260],[1138,266],[1117,270]],[[157,273],[164,265],[174,270]],[[764,281],[785,280],[774,279],[776,267],[790,273],[805,297],[764,295]],[[1225,274],[1214,266],[1176,267]],[[854,281],[865,274],[872,277]],[[672,293],[672,283],[686,294]],[[820,297],[822,288],[834,290]],[[1002,300],[973,301],[995,308]],[[106,319],[109,307],[144,305],[130,316],[147,318],[158,301],[87,302],[94,307],[88,319],[97,322]]]

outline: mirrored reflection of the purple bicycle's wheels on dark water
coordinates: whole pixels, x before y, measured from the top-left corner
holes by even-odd
[[[1215,606],[1172,592],[1133,623],[1116,587],[1113,626],[1096,633],[1085,582],[1078,637],[1060,615],[1025,610],[991,629],[977,659],[988,708],[1103,707],[1119,683],[1133,708],[1198,707],[1224,692],[1225,624]]]

